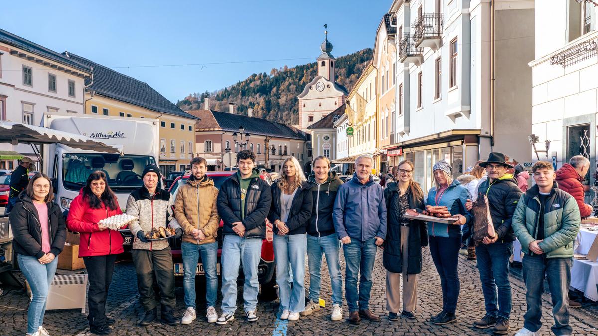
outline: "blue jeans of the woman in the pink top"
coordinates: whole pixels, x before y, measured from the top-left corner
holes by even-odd
[[[19,254],[19,267],[31,287],[33,296],[27,311],[27,333],[33,334],[44,324],[45,303],[54,279],[58,256],[49,264],[40,264],[35,256]]]

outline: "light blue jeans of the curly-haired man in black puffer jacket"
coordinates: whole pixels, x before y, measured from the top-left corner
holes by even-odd
[[[255,310],[258,304],[258,265],[260,264],[261,242],[259,238],[245,239],[227,234],[222,243],[222,313],[234,314],[237,310],[237,277],[239,265],[243,266],[245,283],[243,301],[245,311]]]

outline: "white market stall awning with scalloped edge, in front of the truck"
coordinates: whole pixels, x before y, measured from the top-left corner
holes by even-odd
[[[85,151],[120,154],[118,148],[105,145],[105,143],[87,138],[87,136],[60,132],[22,123],[13,123],[12,121],[0,121],[0,142],[12,143],[14,146],[19,143],[27,143],[30,145],[61,143],[62,145],[83,149]]]

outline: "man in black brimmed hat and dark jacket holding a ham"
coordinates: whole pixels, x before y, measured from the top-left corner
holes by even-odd
[[[505,161],[504,154],[492,152],[488,160],[480,163],[480,166],[486,168],[488,179],[480,183],[478,195],[486,194],[488,197],[495,236],[485,237],[475,248],[486,303],[486,315],[475,321],[474,326],[477,328],[494,326],[493,332],[496,334],[507,334],[510,329],[509,316],[511,315],[509,258],[513,252],[512,242],[515,240],[511,219],[521,197],[521,190],[517,187],[517,179],[507,173],[507,170],[512,167]],[[472,202],[468,200],[465,207],[471,210]],[[498,300],[496,288],[498,288]]]

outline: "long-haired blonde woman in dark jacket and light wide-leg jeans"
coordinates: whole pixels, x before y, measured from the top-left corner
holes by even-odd
[[[280,319],[295,321],[305,307],[306,230],[312,215],[313,197],[309,182],[294,157],[280,169],[280,179],[271,185],[272,204],[268,219],[274,231],[274,261],[279,291]],[[289,280],[289,264],[293,286]]]

